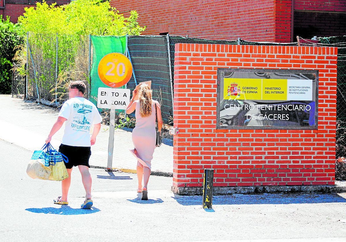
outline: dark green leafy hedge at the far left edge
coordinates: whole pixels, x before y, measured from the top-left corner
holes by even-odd
[[[9,94],[12,83],[12,58],[15,46],[22,44],[24,34],[20,26],[0,15],[0,94]]]

